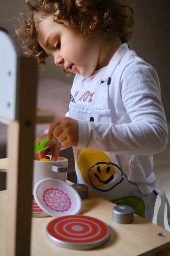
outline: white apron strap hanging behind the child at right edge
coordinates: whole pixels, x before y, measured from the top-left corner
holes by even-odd
[[[169,201],[167,200],[166,193],[164,192],[164,189],[161,189],[158,186],[156,186],[155,192],[158,193],[158,195],[161,198],[161,205],[158,210],[156,224],[160,227],[165,228],[164,227],[164,209],[165,209],[165,204],[167,204],[167,221],[170,227],[170,204],[169,204]]]

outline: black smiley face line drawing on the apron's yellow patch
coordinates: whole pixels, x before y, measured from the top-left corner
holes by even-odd
[[[110,189],[107,189],[107,190],[99,189],[98,187],[94,186],[94,184],[93,184],[93,182],[92,182],[92,180],[91,180],[90,171],[91,171],[91,169],[94,168],[94,166],[99,165],[99,164],[107,164],[107,165],[112,164],[113,166],[116,166],[116,167],[119,169],[119,171],[121,172],[121,177],[122,177],[122,179],[121,179],[119,182],[117,182],[115,185],[113,185]],[[109,167],[109,166],[108,166],[108,167]],[[108,167],[106,168],[106,172],[109,172],[109,170],[111,169],[111,168],[108,169]],[[107,170],[107,169],[108,169],[108,170]],[[97,171],[99,172],[99,170],[97,170]],[[101,183],[103,183],[103,184],[108,184],[108,183],[111,182],[111,180],[113,180],[113,178],[114,178],[114,175],[112,174],[111,177],[108,178],[108,180],[102,181],[96,173],[94,173],[94,176],[95,176]],[[124,179],[124,177],[123,177],[123,172],[122,172],[122,170],[121,170],[120,167],[117,166],[115,163],[111,163],[111,162],[108,162],[108,163],[107,163],[107,162],[97,162],[97,163],[95,163],[93,166],[91,166],[91,167],[88,169],[88,179],[89,179],[89,181],[90,181],[90,183],[91,183],[91,186],[93,186],[94,189],[97,189],[97,190],[99,190],[99,191],[101,191],[101,192],[108,192],[108,191],[110,191],[111,189],[113,189],[115,186],[117,186],[118,184],[120,184],[120,183],[122,182],[122,180]]]

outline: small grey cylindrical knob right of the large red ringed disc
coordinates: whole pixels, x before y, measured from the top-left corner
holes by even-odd
[[[112,210],[112,220],[120,224],[130,224],[134,220],[134,210],[127,205],[116,205]]]

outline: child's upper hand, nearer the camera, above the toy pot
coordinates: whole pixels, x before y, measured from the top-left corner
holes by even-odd
[[[79,140],[78,121],[70,117],[62,117],[50,125],[48,140],[57,137],[63,148],[77,146]]]

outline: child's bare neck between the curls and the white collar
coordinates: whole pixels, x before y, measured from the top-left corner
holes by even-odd
[[[99,70],[109,64],[111,58],[121,44],[122,42],[119,38],[116,38],[115,41],[107,43],[102,41],[99,52],[98,66],[96,70]]]

